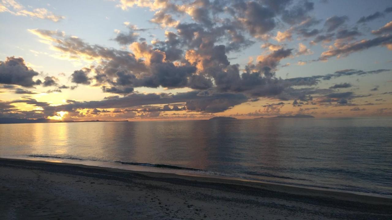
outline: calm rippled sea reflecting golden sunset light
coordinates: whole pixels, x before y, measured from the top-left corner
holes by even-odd
[[[0,124],[0,157],[148,167],[390,197],[392,118]]]

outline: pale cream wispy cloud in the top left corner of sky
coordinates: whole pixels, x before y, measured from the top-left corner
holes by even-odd
[[[16,16],[30,16],[32,18],[47,19],[53,22],[63,20],[65,17],[53,14],[45,8],[36,8],[33,11],[25,9],[25,7],[15,0],[2,0],[0,3],[0,13],[8,12]]]

